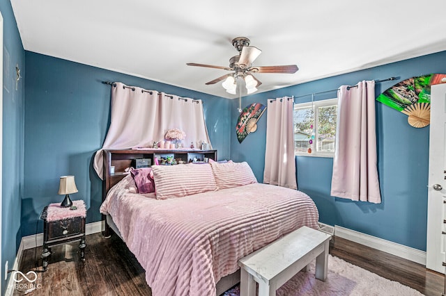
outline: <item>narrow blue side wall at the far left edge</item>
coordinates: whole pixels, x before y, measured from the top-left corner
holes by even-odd
[[[0,1],[3,16],[3,189],[1,200],[1,295],[6,290],[5,263],[13,268],[22,238],[24,79],[15,89],[15,66],[24,76],[24,49],[10,1]]]

